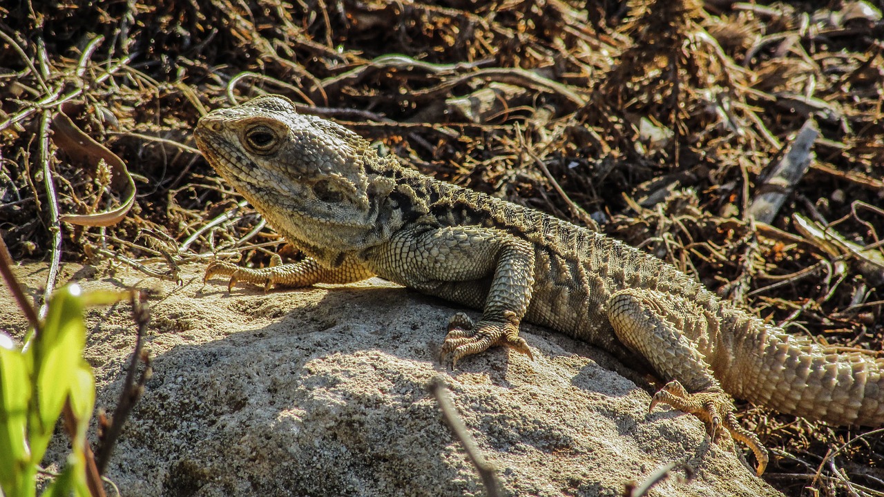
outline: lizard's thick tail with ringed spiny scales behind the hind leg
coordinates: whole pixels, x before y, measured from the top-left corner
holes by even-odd
[[[756,317],[738,319],[728,371],[736,397],[830,424],[884,424],[884,359],[790,335]],[[742,328],[742,329],[741,329]]]

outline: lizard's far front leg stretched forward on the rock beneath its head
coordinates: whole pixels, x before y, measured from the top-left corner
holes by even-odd
[[[271,266],[261,269],[249,269],[230,264],[226,261],[214,261],[206,267],[202,281],[205,283],[216,275],[229,276],[227,291],[232,290],[237,282],[245,281],[262,285],[266,292],[270,287],[309,287],[316,283],[345,284],[369,279],[375,274],[364,264],[354,260],[352,256],[344,258],[343,264],[337,267],[325,267],[311,258],[293,264],[279,264],[278,255],[271,259]]]

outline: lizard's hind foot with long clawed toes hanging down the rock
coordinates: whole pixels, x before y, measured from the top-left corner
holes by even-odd
[[[651,399],[648,412],[651,412],[658,403],[672,406],[674,409],[692,414],[700,419],[708,428],[709,436],[715,441],[718,435],[727,431],[734,440],[743,442],[751,448],[758,461],[756,472],[761,476],[767,468],[767,449],[761,445],[761,440],[755,433],[744,429],[737,423],[734,416],[734,402],[727,394],[720,390],[708,390],[689,394],[684,386],[677,380],[670,381],[660,388]]]

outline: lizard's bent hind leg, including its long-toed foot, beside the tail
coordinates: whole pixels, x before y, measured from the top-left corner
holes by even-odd
[[[751,448],[758,460],[758,475],[764,472],[766,448],[754,433],[737,423],[734,402],[713,377],[697,340],[689,338],[706,334],[697,306],[673,295],[627,289],[611,296],[608,320],[621,342],[644,356],[660,376],[672,379],[654,394],[649,412],[659,403],[668,404],[703,421],[713,440],[728,432]]]

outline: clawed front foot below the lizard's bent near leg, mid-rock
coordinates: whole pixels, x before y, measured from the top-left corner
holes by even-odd
[[[439,362],[451,355],[451,367],[464,356],[484,352],[493,345],[505,345],[531,359],[528,342],[519,337],[519,326],[510,321],[479,321],[477,325],[466,314],[458,312],[448,321],[448,334],[439,352]]]

